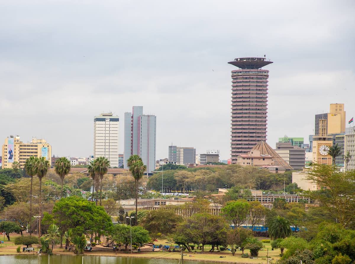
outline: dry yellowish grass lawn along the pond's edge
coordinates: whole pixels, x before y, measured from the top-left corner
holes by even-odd
[[[28,235],[28,234],[24,234]],[[10,241],[7,241],[7,238],[5,236],[4,244],[0,244],[0,255],[8,255],[8,254],[37,254],[37,253],[26,253],[22,252],[22,247],[21,246],[21,253],[16,252],[17,246],[13,243],[14,239],[16,236],[20,236],[20,234],[12,233],[10,234]],[[0,240],[3,240],[4,237],[1,237]],[[158,239],[158,241],[155,241],[156,245],[163,244],[163,245],[170,245],[170,243],[166,243],[166,238]],[[172,244],[173,246],[176,244]],[[36,248],[37,245],[33,245],[35,248],[35,252],[38,252],[38,249]],[[237,251],[235,255],[233,256],[230,251],[221,251],[221,252],[208,252],[209,249],[211,249],[210,245],[205,246],[205,252],[201,253],[201,250],[198,251],[193,251],[193,252],[187,252],[185,251],[184,254],[184,259],[186,260],[205,260],[208,262],[229,262],[229,263],[251,263],[251,264],[266,264],[266,255],[267,255],[267,249],[269,249],[269,259],[273,259],[274,262],[275,260],[278,260],[279,254],[280,254],[280,249],[275,249],[271,250],[271,244],[270,243],[264,243],[264,248],[259,251],[259,256],[257,259],[250,259],[250,258],[242,258],[241,251]],[[249,249],[245,249],[244,253],[250,253]],[[59,245],[55,246],[53,249],[53,254],[65,254],[65,255],[72,255],[73,252],[68,252],[64,251],[64,249],[59,248]],[[162,251],[156,251],[156,252],[141,252],[141,253],[133,253],[132,255],[129,253],[124,253],[124,252],[85,252],[85,255],[107,255],[107,256],[122,256],[122,257],[141,257],[141,258],[156,258],[156,259],[180,259],[181,254],[179,252],[162,252]],[[220,256],[223,256],[225,258],[220,258]]]

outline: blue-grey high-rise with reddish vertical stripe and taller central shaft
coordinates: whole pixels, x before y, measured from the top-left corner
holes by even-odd
[[[156,148],[155,115],[143,115],[143,106],[133,106],[132,112],[125,112],[124,167],[131,155],[138,155],[147,166],[147,174],[155,169]]]

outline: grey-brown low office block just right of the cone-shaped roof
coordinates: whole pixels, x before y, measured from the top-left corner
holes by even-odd
[[[276,143],[275,152],[280,155],[294,170],[305,167],[306,149],[292,145],[290,142]]]

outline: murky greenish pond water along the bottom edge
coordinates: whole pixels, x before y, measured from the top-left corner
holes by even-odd
[[[84,255],[84,264],[178,264],[176,259],[149,259],[127,257],[104,257]],[[48,255],[13,255],[0,256],[1,264],[48,264]],[[53,255],[49,256],[49,264],[81,264],[82,256]],[[188,261],[184,264],[211,264],[211,262]]]

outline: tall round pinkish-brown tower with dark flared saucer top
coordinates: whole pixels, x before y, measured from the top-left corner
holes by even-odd
[[[237,58],[228,62],[238,67],[232,73],[231,158],[266,141],[267,90],[269,71],[261,69],[272,61],[264,58]]]

